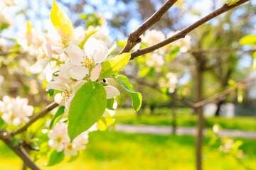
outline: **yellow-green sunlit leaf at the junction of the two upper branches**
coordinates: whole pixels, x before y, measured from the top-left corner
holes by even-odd
[[[122,55],[117,55],[111,60],[107,60],[102,64],[102,71],[100,72],[100,77],[107,78],[111,77],[113,74],[117,74],[129,62],[130,58],[131,54],[123,53]]]

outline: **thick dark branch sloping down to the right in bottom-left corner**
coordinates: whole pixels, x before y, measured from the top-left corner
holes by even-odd
[[[6,139],[4,138],[4,130],[0,129],[0,139],[9,147],[11,148],[17,155],[18,157],[20,157],[24,164],[26,164],[26,166],[30,167],[33,170],[40,170],[40,168],[38,166],[36,166],[36,164],[31,160],[31,158],[29,157],[29,154],[25,151],[25,149],[20,148],[18,145],[13,146],[11,139]]]

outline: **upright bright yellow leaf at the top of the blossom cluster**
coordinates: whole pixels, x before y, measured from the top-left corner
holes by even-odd
[[[73,24],[70,21],[70,18],[68,18],[67,14],[63,9],[61,9],[55,1],[53,1],[53,7],[50,11],[50,20],[53,23],[53,26],[55,27],[55,30],[57,30],[58,34],[63,37],[68,37],[68,39],[73,40],[74,39],[74,28]]]

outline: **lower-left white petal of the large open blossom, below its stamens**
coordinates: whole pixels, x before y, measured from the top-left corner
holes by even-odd
[[[72,79],[81,80],[89,73],[89,69],[82,66],[73,66],[68,69],[68,76]]]

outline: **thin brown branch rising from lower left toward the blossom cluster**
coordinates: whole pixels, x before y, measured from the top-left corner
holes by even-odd
[[[15,130],[14,132],[11,132],[10,134],[3,134],[4,138],[8,138],[8,137],[17,135],[18,133],[21,133],[21,132],[25,131],[29,126],[31,126],[33,123],[35,123],[36,120],[45,117],[49,111],[52,111],[57,106],[58,106],[58,104],[55,103],[55,102],[50,103],[50,105],[46,106],[46,108],[43,111],[41,111],[37,115],[34,115],[31,118],[31,120],[29,120],[29,122],[26,123],[26,125],[24,125],[22,128],[19,128],[18,130]],[[0,135],[0,137],[1,137],[1,135]]]

